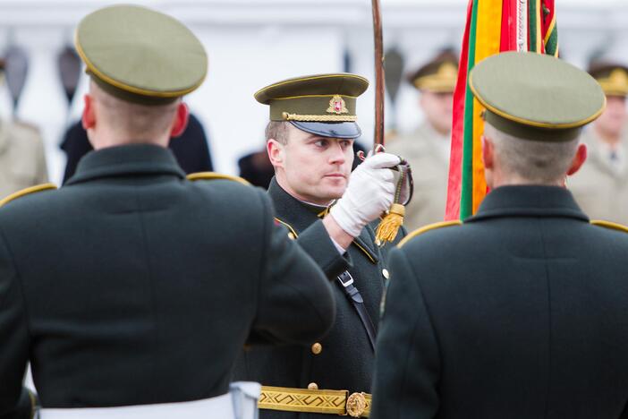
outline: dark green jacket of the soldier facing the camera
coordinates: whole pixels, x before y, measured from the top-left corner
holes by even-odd
[[[320,208],[297,201],[284,192],[275,179],[270,184],[268,194],[275,203],[277,218],[298,234],[297,242],[333,280],[337,307],[335,323],[325,338],[312,340],[308,346],[245,351],[236,373],[237,378],[259,381],[266,386],[301,389],[315,382],[318,389],[370,393],[373,349],[355,308],[335,283],[335,278],[345,269],[349,270],[377,328],[385,278],[382,275],[381,254],[373,243],[373,230],[365,227],[361,236],[345,253],[346,257],[342,257],[318,218]],[[322,351],[315,355],[311,345],[317,342],[321,344]],[[329,415],[260,410],[262,419],[297,417],[328,418]]]

